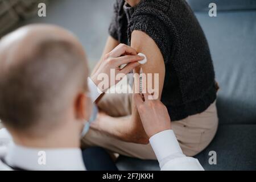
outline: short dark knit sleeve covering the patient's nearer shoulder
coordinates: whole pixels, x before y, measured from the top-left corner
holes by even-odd
[[[165,3],[167,6],[164,6]],[[128,27],[130,41],[135,30],[144,32],[154,40],[166,63],[171,60],[175,32],[168,16],[168,6],[168,1],[141,1],[131,16]]]

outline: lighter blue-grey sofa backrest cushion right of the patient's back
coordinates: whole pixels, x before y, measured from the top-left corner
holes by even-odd
[[[220,123],[256,123],[256,11],[196,13],[207,36]]]

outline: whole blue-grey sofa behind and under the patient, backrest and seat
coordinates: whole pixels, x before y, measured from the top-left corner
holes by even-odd
[[[208,15],[215,2],[217,17]],[[220,85],[216,137],[196,155],[206,170],[256,170],[256,1],[188,0],[207,36]],[[210,165],[209,151],[217,164]],[[158,162],[121,156],[121,170],[158,170]]]

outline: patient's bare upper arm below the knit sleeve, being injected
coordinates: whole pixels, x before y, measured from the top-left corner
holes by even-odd
[[[157,85],[158,89],[154,90],[155,95],[158,96],[160,100],[163,84],[164,84],[164,76],[165,76],[165,66],[164,66],[164,59],[162,53],[154,40],[150,38],[146,33],[142,31],[135,30],[131,34],[131,47],[135,48],[137,52],[144,53],[147,57],[147,63],[141,65],[141,67],[137,67],[134,70],[134,73],[139,73],[140,68],[143,69],[143,73],[152,73],[152,85]],[[158,73],[159,79],[154,82],[154,73]],[[147,80],[148,81],[148,80]],[[136,81],[135,81],[136,83]],[[137,82],[138,83],[138,82]],[[135,85],[134,85],[135,86]],[[151,85],[146,84],[147,89],[148,87],[151,88]],[[138,85],[135,86],[138,88]],[[153,86],[154,88],[154,86]],[[137,113],[137,108],[133,104],[133,118],[139,118]]]

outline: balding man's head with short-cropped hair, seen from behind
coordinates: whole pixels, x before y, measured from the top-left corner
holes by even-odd
[[[0,119],[11,129],[52,129],[84,92],[88,70],[79,41],[49,25],[26,26],[0,41]]]

